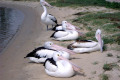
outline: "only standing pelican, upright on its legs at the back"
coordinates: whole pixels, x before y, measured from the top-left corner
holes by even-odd
[[[40,4],[44,9],[44,12],[41,15],[41,21],[47,25],[48,30],[48,25],[52,25],[52,27],[57,25],[57,19],[53,15],[47,13],[47,8],[45,5],[51,7],[49,3],[47,3],[45,0],[40,0]]]

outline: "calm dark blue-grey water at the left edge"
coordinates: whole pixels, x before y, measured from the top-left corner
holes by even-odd
[[[23,19],[21,11],[0,7],[0,53],[15,35]]]

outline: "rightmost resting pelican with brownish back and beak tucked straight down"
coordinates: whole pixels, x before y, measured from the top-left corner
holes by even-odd
[[[100,29],[97,29],[95,37],[98,42],[92,40],[80,40],[73,42],[68,48],[76,53],[93,52],[98,50],[103,52],[103,40],[101,39]]]

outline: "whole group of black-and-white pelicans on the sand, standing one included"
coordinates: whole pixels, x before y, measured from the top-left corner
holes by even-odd
[[[41,21],[48,25],[52,25],[50,38],[57,41],[75,40],[67,46],[67,48],[54,44],[52,41],[47,41],[44,46],[35,48],[29,52],[24,58],[29,58],[30,61],[35,63],[43,63],[46,74],[53,77],[72,77],[76,71],[82,70],[79,66],[70,61],[70,56],[76,53],[85,53],[93,51],[103,52],[103,40],[101,38],[101,30],[97,29],[95,38],[97,41],[92,40],[77,40],[79,36],[83,36],[80,28],[74,26],[67,21],[62,21],[62,24],[57,23],[57,19],[48,14],[46,6],[52,7],[45,0],[40,0],[44,12],[41,15]]]

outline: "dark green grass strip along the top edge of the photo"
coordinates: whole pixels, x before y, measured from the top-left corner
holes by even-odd
[[[120,9],[120,3],[116,2],[106,2],[105,0],[46,0],[50,2],[51,5],[58,7],[66,6],[104,6],[107,8]],[[64,1],[64,2],[63,2]]]

